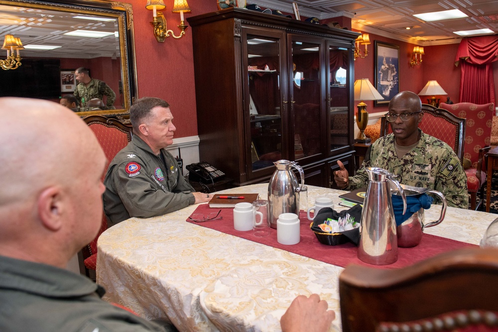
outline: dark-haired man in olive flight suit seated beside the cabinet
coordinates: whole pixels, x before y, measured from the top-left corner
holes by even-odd
[[[212,195],[193,192],[165,147],[173,144],[169,104],[144,97],[129,110],[133,138],[107,170],[104,211],[109,226],[130,217],[154,217],[208,202]]]

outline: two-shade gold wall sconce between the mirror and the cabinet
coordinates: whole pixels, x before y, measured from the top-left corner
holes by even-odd
[[[185,34],[185,29],[188,25],[185,25],[185,19],[183,17],[184,12],[190,12],[190,7],[188,6],[187,0],[175,0],[172,12],[180,13],[180,24],[177,25],[181,30],[180,35],[176,36],[173,30],[168,30],[166,25],[166,18],[162,12],[157,11],[157,9],[164,9],[166,5],[163,0],[148,0],[145,8],[152,10],[154,18],[152,19],[152,26],[154,27],[154,36],[158,42],[164,43],[166,37],[172,36],[173,38],[181,38]]]

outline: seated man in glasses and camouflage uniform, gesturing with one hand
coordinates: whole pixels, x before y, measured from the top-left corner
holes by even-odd
[[[396,175],[402,184],[440,191],[448,206],[467,209],[467,177],[462,164],[448,144],[418,128],[424,115],[421,110],[422,103],[416,94],[404,91],[394,96],[388,113],[393,133],[380,137],[369,147],[356,176],[350,177],[338,161],[340,170],[334,172],[337,186],[344,190],[367,187],[365,168],[380,167]]]

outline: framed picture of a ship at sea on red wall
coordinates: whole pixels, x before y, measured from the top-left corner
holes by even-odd
[[[375,89],[384,98],[373,106],[387,106],[399,93],[399,45],[375,40]]]

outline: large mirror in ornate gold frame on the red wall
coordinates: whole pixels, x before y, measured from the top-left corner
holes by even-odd
[[[123,2],[0,0],[0,37],[3,41],[5,34],[13,34],[21,39],[24,49],[20,50],[20,55],[26,64],[30,61],[41,61],[43,64],[50,63],[48,60],[55,60],[55,63],[58,61],[60,95],[72,93],[71,90],[77,81],[73,81],[74,84],[71,85],[68,84],[71,83],[70,79],[66,81],[66,78],[70,78],[71,71],[74,72],[79,67],[91,68],[90,76],[101,79],[113,89],[116,94],[115,110],[78,112],[80,116],[125,115],[132,100],[137,97],[132,17],[131,4]],[[104,37],[66,34],[75,30],[107,33]],[[31,47],[49,45],[56,48],[40,50],[36,49],[37,47],[29,48],[30,45]],[[0,59],[5,57],[6,51],[0,50]],[[16,74],[16,70],[0,72],[9,72],[10,77],[20,75]],[[50,75],[54,76],[55,73],[50,72]],[[26,86],[29,86],[26,83],[29,81],[29,76],[22,80],[1,79],[1,81],[5,84],[14,81],[24,82],[24,84],[20,82],[10,84],[11,90],[15,90],[15,95],[19,97],[42,98],[41,96],[46,95],[43,99],[56,101],[53,98],[55,91],[39,93],[39,90],[45,88],[56,89],[52,85],[47,87],[43,79],[40,79],[36,90],[34,89],[36,86],[26,89]]]

